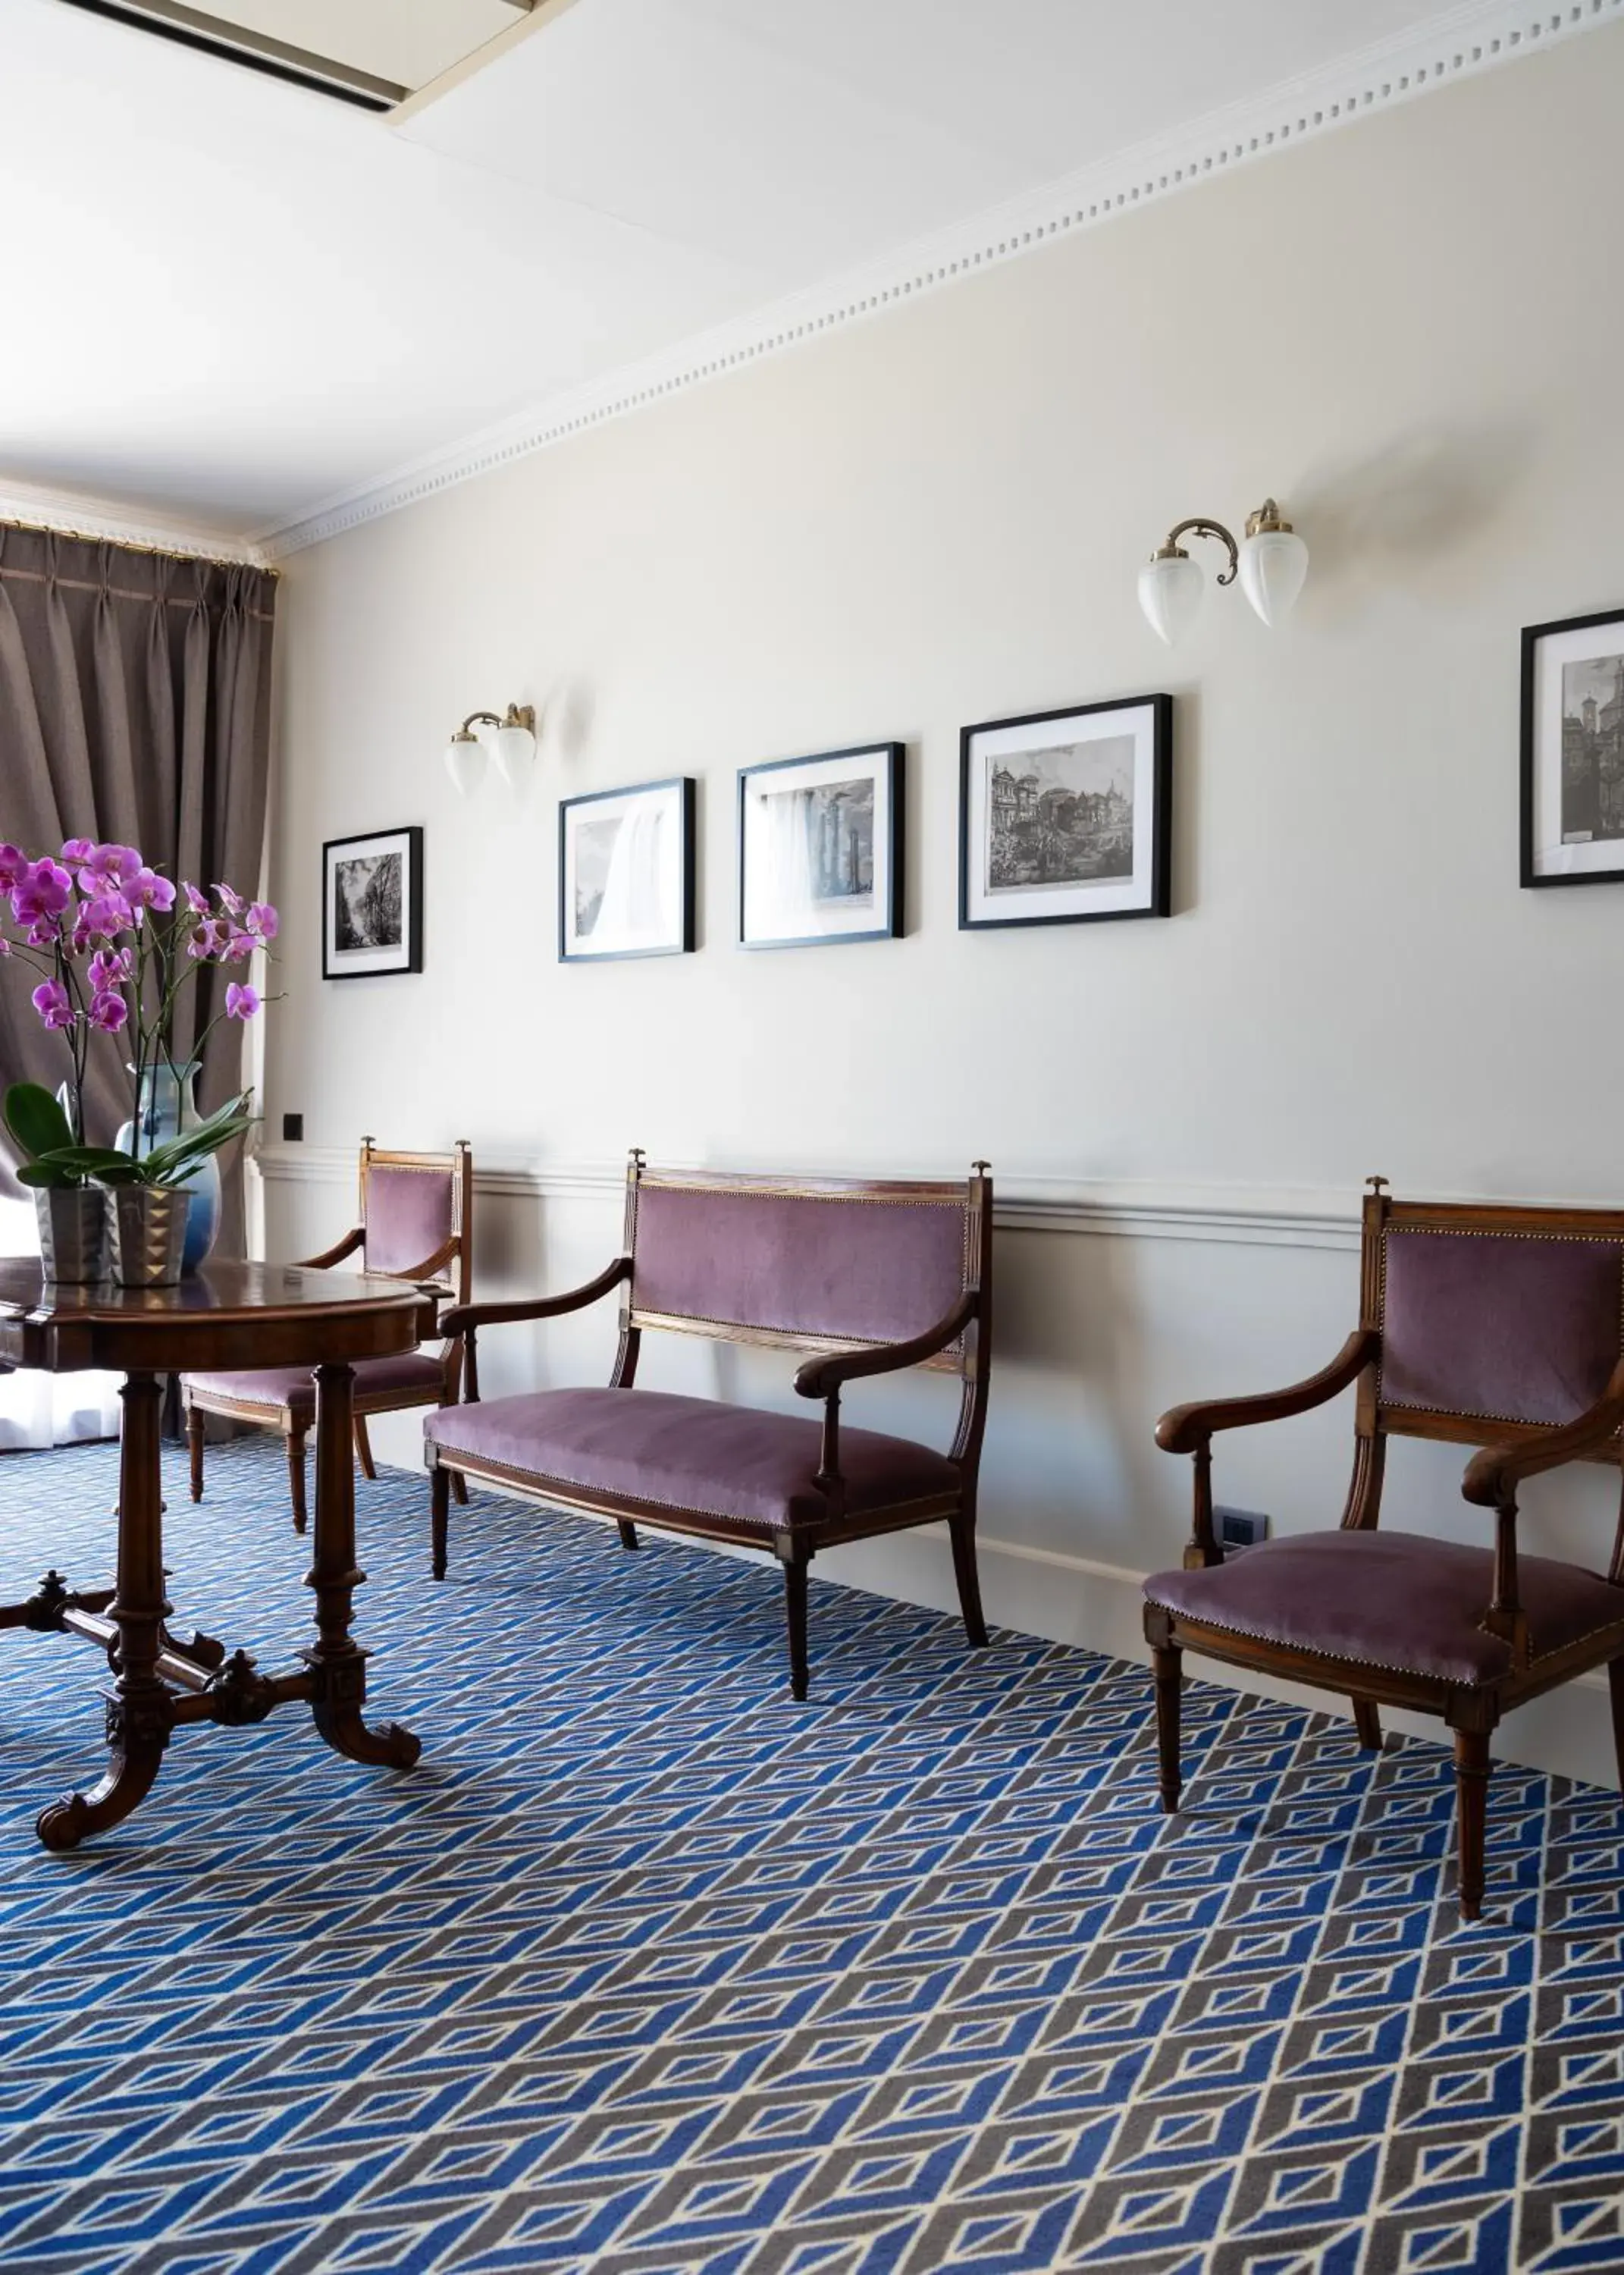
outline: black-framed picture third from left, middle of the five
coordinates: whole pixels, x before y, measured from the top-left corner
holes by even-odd
[[[903,746],[739,769],[739,944],[903,937]]]

